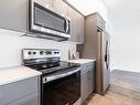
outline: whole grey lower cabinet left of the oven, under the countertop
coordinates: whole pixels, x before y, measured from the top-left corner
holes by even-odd
[[[0,86],[0,105],[40,105],[40,77]]]

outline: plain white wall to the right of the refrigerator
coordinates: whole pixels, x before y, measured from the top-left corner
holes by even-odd
[[[140,24],[115,27],[111,34],[111,69],[140,72]]]

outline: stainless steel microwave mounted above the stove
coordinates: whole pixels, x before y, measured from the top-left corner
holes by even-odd
[[[42,38],[71,38],[71,19],[61,15],[41,0],[30,0],[29,29],[31,32],[43,33]],[[37,35],[39,36],[39,35]]]

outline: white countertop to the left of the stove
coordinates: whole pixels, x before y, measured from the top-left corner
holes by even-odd
[[[0,85],[39,76],[42,73],[25,66],[17,66],[0,70]]]

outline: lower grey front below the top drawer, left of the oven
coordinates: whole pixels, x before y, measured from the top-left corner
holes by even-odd
[[[37,94],[31,94],[26,97],[18,99],[9,105],[40,105]]]

